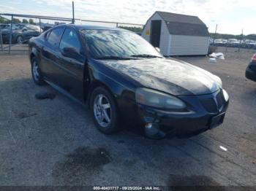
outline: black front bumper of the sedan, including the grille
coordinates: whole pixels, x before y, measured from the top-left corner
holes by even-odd
[[[187,104],[187,110],[173,112],[138,105],[140,120],[144,125],[157,124],[159,130],[170,135],[195,135],[220,125],[225,117],[229,101],[222,90],[209,95],[179,96]]]

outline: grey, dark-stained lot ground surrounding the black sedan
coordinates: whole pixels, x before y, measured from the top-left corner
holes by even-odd
[[[88,109],[34,85],[27,55],[0,55],[0,185],[256,186],[256,82],[244,77],[251,57],[179,58],[221,77],[230,107],[219,128],[154,141],[99,133]],[[34,98],[45,91],[56,98]]]

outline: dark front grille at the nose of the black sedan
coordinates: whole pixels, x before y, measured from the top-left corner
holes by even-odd
[[[200,103],[206,109],[207,112],[217,113],[224,104],[224,98],[222,93],[219,91],[217,94],[212,94],[208,98],[200,98]]]

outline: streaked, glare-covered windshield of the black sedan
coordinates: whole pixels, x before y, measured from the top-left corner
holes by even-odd
[[[162,58],[145,39],[129,31],[82,30],[81,34],[95,59]]]

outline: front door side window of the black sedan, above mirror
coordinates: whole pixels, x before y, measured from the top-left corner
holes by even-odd
[[[64,34],[61,39],[61,43],[59,44],[59,48],[64,50],[65,47],[73,48],[76,52],[80,53],[80,42],[78,39],[78,35],[71,28],[66,28]]]

